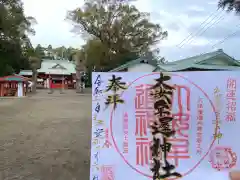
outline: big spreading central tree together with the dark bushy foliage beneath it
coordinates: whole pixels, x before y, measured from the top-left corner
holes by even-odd
[[[82,59],[88,67],[111,69],[136,59],[167,37],[159,24],[149,21],[149,14],[128,4],[86,1],[84,6],[68,12],[74,32],[88,35]]]

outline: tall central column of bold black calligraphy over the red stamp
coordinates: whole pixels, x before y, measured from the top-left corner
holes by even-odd
[[[160,78],[156,79],[156,84],[152,87],[151,95],[154,98],[156,116],[156,119],[150,123],[153,135],[151,144],[153,180],[182,177],[180,173],[174,171],[175,166],[167,160],[167,155],[172,147],[172,144],[168,142],[168,138],[175,134],[170,124],[173,121],[171,107],[175,88],[166,83],[170,79],[170,76],[160,73]]]

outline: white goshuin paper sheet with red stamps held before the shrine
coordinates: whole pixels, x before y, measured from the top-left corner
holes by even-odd
[[[159,74],[92,74],[91,180],[152,179],[149,166],[152,135],[144,118],[152,118],[149,113],[153,109],[135,108],[141,105],[135,102],[146,98],[144,92],[156,83]],[[240,98],[237,89],[240,73],[208,71],[168,74],[172,79],[167,83],[177,89],[174,91],[172,113],[175,114],[178,132],[171,138],[168,161],[175,165],[174,171],[180,173],[183,180],[229,179],[228,172],[240,168],[237,159],[240,154],[237,138],[240,127],[237,118],[240,115],[237,102]],[[115,110],[113,104],[105,105],[107,96],[113,94],[112,91],[105,92],[112,75],[122,77],[121,81],[128,86],[126,90],[118,91],[124,103],[117,104]],[[180,111],[185,116],[177,121],[177,118],[181,119],[178,116]]]

